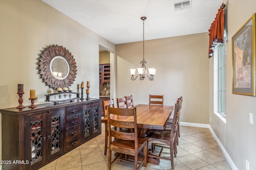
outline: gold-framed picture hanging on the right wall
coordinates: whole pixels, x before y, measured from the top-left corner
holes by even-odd
[[[232,94],[256,93],[255,13],[232,37]]]

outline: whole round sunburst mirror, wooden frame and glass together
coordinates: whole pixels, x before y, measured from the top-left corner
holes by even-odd
[[[76,62],[64,47],[52,45],[40,54],[39,72],[50,88],[64,88],[73,84],[76,78]]]

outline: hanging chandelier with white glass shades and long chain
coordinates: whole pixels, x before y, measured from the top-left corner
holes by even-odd
[[[140,62],[140,64],[142,64],[142,66],[140,68],[137,68],[138,75],[136,77],[134,77],[136,69],[134,69],[134,68],[130,69],[131,75],[132,75],[131,79],[136,80],[136,78],[138,76],[140,76],[140,80],[144,80],[144,78],[147,76],[149,80],[154,80],[155,79],[154,75],[155,75],[156,69],[155,68],[148,68],[148,72],[147,72],[147,68],[146,68],[146,63],[147,62],[144,59],[144,20],[146,20],[147,18],[146,17],[141,17],[140,19],[143,20],[143,59]]]

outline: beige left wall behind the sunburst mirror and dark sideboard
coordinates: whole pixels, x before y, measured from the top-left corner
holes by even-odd
[[[30,89],[36,89],[35,104],[45,103],[49,88],[38,74],[38,54],[53,44],[66,47],[74,55],[74,91],[77,84],[89,80],[90,96],[99,97],[99,45],[115,51],[113,43],[40,0],[0,0],[1,109],[18,106],[17,84],[24,84],[24,106],[30,104]],[[2,141],[2,153],[1,149]]]

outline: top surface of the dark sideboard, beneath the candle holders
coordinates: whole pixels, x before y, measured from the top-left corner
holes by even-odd
[[[55,109],[55,108],[62,108],[62,107],[68,107],[68,106],[76,106],[80,104],[91,104],[94,102],[100,102],[102,99],[91,99],[91,100],[74,100],[74,102],[60,102],[59,104],[54,104],[54,102],[46,103],[46,104],[38,104],[36,107],[28,107],[25,106],[25,108],[18,109],[16,107],[12,108],[6,108],[6,109],[0,109],[0,112],[3,114],[5,112],[11,112],[11,113],[27,113],[27,112],[35,112],[35,111],[44,111],[49,109]]]

